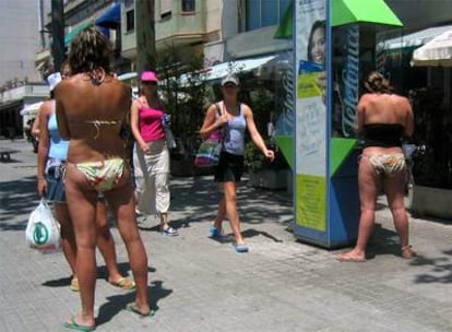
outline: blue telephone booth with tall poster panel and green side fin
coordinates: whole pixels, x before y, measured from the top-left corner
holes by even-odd
[[[358,228],[356,140],[349,133],[358,95],[347,92],[353,96],[347,117],[343,92],[333,93],[334,84],[343,84],[333,82],[329,3],[295,1],[294,234],[333,248],[349,245]],[[342,70],[341,76],[348,74]]]

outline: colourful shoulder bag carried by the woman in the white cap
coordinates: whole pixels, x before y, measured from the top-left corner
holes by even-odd
[[[222,115],[218,104],[215,104],[218,115]],[[194,166],[212,167],[218,165],[219,155],[222,154],[223,133],[218,129],[214,131],[209,139],[204,140],[198,147],[194,156]]]

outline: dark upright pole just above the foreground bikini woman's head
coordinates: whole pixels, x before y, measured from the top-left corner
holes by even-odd
[[[139,1],[140,2],[140,1]],[[60,71],[64,60],[64,5],[63,0],[51,0],[51,54],[53,70]]]

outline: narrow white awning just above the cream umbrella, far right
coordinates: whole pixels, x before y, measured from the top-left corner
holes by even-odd
[[[413,34],[402,35],[400,37],[383,42],[383,49],[389,50],[405,47],[418,47],[450,29],[452,29],[452,25],[435,26]]]

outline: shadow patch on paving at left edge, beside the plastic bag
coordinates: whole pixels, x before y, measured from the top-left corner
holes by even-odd
[[[31,202],[36,202],[32,203]],[[1,183],[0,230],[24,230],[29,213],[37,206],[39,198],[36,191],[36,177],[29,176],[19,180]],[[22,222],[14,221],[25,214]]]

